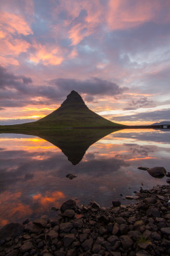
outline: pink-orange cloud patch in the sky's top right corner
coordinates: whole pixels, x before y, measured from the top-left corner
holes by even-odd
[[[164,3],[168,7],[169,1],[165,0]],[[156,22],[162,8],[161,1],[109,0],[107,24],[109,29],[128,29],[150,20]],[[162,22],[167,22],[169,19],[170,15],[167,14]]]

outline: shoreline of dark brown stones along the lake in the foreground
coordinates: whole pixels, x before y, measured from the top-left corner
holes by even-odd
[[[52,220],[48,216],[0,231],[1,256],[149,256],[170,255],[169,186],[136,193],[138,202],[100,208],[95,201],[69,200]]]

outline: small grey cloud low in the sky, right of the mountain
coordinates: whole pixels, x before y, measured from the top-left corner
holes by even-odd
[[[139,98],[137,100],[132,100],[124,110],[133,110],[140,108],[147,108],[148,106],[155,106],[153,100],[149,100],[147,97]]]

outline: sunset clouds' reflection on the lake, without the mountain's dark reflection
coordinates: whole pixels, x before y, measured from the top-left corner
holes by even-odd
[[[135,136],[139,133],[135,132]],[[137,167],[154,167],[161,163],[168,168],[169,155],[163,152],[167,153],[169,149],[164,145],[157,147],[156,143],[146,146],[132,144],[126,137],[131,137],[133,132],[122,134],[121,131],[115,135],[124,137],[126,143],[114,144],[114,134],[110,134],[92,145],[75,166],[61,150],[55,151],[50,148],[50,143],[41,139],[36,142],[36,150],[32,147],[35,141],[27,143],[25,140],[23,147],[22,139],[18,138],[15,150],[12,150],[12,138],[7,147],[4,143],[3,150],[0,150],[1,225],[7,221],[47,214],[52,205],[59,207],[65,199],[74,198],[88,203],[92,198],[103,206],[109,206],[120,193],[132,195],[134,190],[139,190],[141,182],[144,188],[165,184],[164,178],[157,180]],[[160,135],[162,137],[164,133]],[[103,143],[103,140],[109,141],[109,144]],[[48,150],[41,148],[41,145],[49,146]],[[69,180],[65,177],[68,173],[75,173],[78,177]]]

